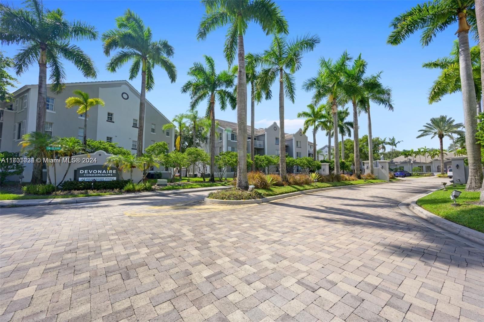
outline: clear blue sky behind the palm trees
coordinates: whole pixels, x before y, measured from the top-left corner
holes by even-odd
[[[9,1],[20,6],[20,1]],[[422,48],[419,35],[410,37],[403,44],[391,46],[386,38],[391,31],[388,27],[394,16],[410,8],[416,1],[277,1],[289,23],[289,37],[303,34],[318,34],[321,43],[313,52],[304,55],[302,68],[295,74],[297,96],[295,103],[285,102],[286,132],[296,132],[302,127],[297,119],[299,111],[311,102],[311,93],[301,89],[302,82],[314,76],[318,70],[320,57],[336,59],[344,50],[356,57],[362,53],[368,62],[368,73],[383,71],[382,82],[393,88],[394,111],[390,112],[378,105],[372,106],[373,136],[392,137],[403,140],[398,149],[422,146],[438,147],[438,139],[416,139],[418,130],[431,117],[448,115],[457,122],[463,121],[462,98],[460,93],[446,96],[441,102],[429,105],[427,92],[438,71],[422,68],[422,63],[448,55],[452,41],[456,39],[456,25],[438,35],[429,46]],[[218,70],[227,68],[223,57],[223,44],[226,28],[215,30],[205,41],[197,41],[196,33],[204,8],[198,1],[48,1],[49,9],[57,7],[65,11],[68,19],[79,19],[90,23],[100,34],[115,27],[114,18],[130,8],[140,15],[150,26],[155,39],[166,39],[174,48],[172,61],[178,70],[176,83],[169,82],[166,73],[160,68],[154,70],[155,88],[147,93],[147,98],[166,117],[185,112],[190,98],[181,94],[182,84],[189,79],[187,70],[202,55],[211,55]],[[244,38],[245,51],[260,52],[271,42],[260,28],[251,24]],[[117,73],[106,71],[108,58],[102,52],[100,40],[77,42],[86,53],[91,55],[99,70],[98,80],[118,80],[128,78],[129,64]],[[18,47],[3,47],[8,56],[13,56]],[[66,63],[67,82],[89,81],[76,68]],[[38,81],[38,67],[32,66],[27,73],[18,77],[20,86],[35,84]],[[130,81],[140,88],[140,77]],[[274,98],[256,106],[256,127],[266,127],[278,120],[278,85],[272,88]],[[248,98],[250,99],[250,97]],[[199,106],[204,113],[205,104]],[[349,106],[349,105],[348,105]],[[249,103],[250,113],[250,103]],[[351,108],[350,108],[351,109]],[[218,107],[217,118],[236,121],[235,111],[221,112]],[[350,118],[352,118],[350,116]],[[250,118],[248,117],[248,122]],[[360,135],[367,133],[366,114],[359,117]],[[309,133],[308,133],[309,134]],[[311,134],[309,134],[311,137]],[[322,132],[317,135],[318,146],[327,143]],[[445,139],[444,147],[450,140]]]

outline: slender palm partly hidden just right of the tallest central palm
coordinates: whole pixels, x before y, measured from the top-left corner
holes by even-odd
[[[234,65],[232,67],[232,73],[237,74],[239,70],[238,65]],[[257,65],[254,60],[254,55],[247,54],[245,55],[245,76],[247,84],[250,84],[250,160],[252,164],[250,165],[250,171],[255,171],[255,164],[254,164],[254,128],[255,128],[255,109],[256,109],[256,102],[262,101],[262,95],[265,96],[266,100],[270,100],[272,98],[272,91],[271,88],[263,88],[261,89],[260,86],[258,87],[256,83],[259,79],[259,71],[257,70]],[[235,93],[237,93],[237,86],[235,87]]]

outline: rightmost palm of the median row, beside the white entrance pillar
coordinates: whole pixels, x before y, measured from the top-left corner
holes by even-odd
[[[383,105],[390,111],[393,111],[392,89],[385,87],[380,82],[381,72],[373,74],[366,80],[371,86],[365,88],[361,98],[363,112],[368,116],[368,156],[370,161],[370,172],[373,174],[373,135],[371,130],[370,102]]]

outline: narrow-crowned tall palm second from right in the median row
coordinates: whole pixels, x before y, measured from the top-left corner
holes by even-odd
[[[361,108],[359,102],[364,94],[364,89],[370,84],[367,84],[367,78],[364,77],[366,72],[367,63],[362,59],[361,54],[353,60],[353,64],[348,68],[346,73],[346,82],[349,85],[348,96],[353,106],[353,150],[354,150],[354,162],[355,162],[355,174],[360,176],[360,139],[359,139],[359,126],[358,116]]]

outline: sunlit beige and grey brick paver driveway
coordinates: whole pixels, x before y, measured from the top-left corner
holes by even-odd
[[[2,208],[0,321],[484,321],[483,249],[397,206],[438,185]]]

